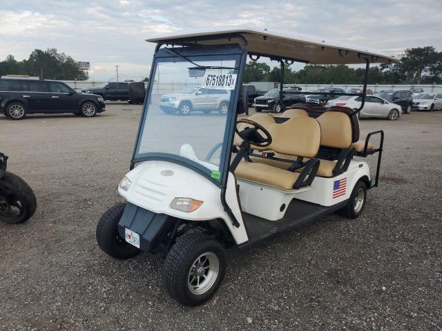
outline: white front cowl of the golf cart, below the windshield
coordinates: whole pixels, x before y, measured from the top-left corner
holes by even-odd
[[[118,192],[128,202],[158,214],[190,221],[222,219],[237,244],[248,240],[236,197],[233,174],[229,174],[227,181],[226,201],[240,223],[239,228],[233,226],[222,207],[220,188],[189,168],[166,161],[145,161],[128,172],[126,177],[132,181],[131,187],[127,191],[118,188]],[[176,197],[197,199],[204,203],[194,212],[182,212],[171,208],[171,202]]]

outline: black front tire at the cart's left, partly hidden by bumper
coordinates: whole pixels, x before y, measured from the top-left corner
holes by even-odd
[[[118,233],[118,222],[122,218],[126,203],[117,203],[108,209],[99,219],[95,232],[99,247],[115,259],[131,259],[140,254],[141,250],[126,243]]]

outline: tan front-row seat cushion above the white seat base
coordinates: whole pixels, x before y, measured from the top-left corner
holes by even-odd
[[[293,190],[293,185],[298,179],[298,172],[282,170],[264,163],[240,162],[235,170],[239,179],[256,181],[276,188]]]

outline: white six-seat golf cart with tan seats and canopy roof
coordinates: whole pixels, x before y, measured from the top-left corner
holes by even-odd
[[[157,43],[131,161],[119,184],[126,199],[97,225],[97,241],[117,259],[163,252],[164,285],[177,301],[198,305],[224,277],[227,248],[247,248],[333,212],[358,217],[378,185],[383,132],[359,141],[355,110],[295,105],[280,117],[247,112],[241,92],[247,55],[281,66],[365,63],[394,58],[365,48],[267,30],[170,35]],[[281,70],[284,72],[284,70]],[[283,77],[281,96],[283,97]],[[173,116],[161,96],[187,86],[230,90],[225,116]],[[312,94],[312,92],[306,92]],[[343,95],[343,94],[337,94]],[[348,94],[354,95],[354,94]],[[282,99],[282,97],[280,99]],[[206,103],[211,103],[207,93]],[[369,143],[381,134],[376,148]],[[378,153],[376,177],[355,156]],[[136,165],[136,166],[135,166]]]

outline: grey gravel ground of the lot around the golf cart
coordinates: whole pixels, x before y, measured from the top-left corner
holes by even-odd
[[[386,132],[363,215],[229,252],[220,290],[186,308],[162,288],[162,257],[115,261],[95,241],[140,108],[0,117],[9,170],[38,201],[27,223],[0,224],[0,330],[442,330],[442,112],[361,121],[363,137]]]

